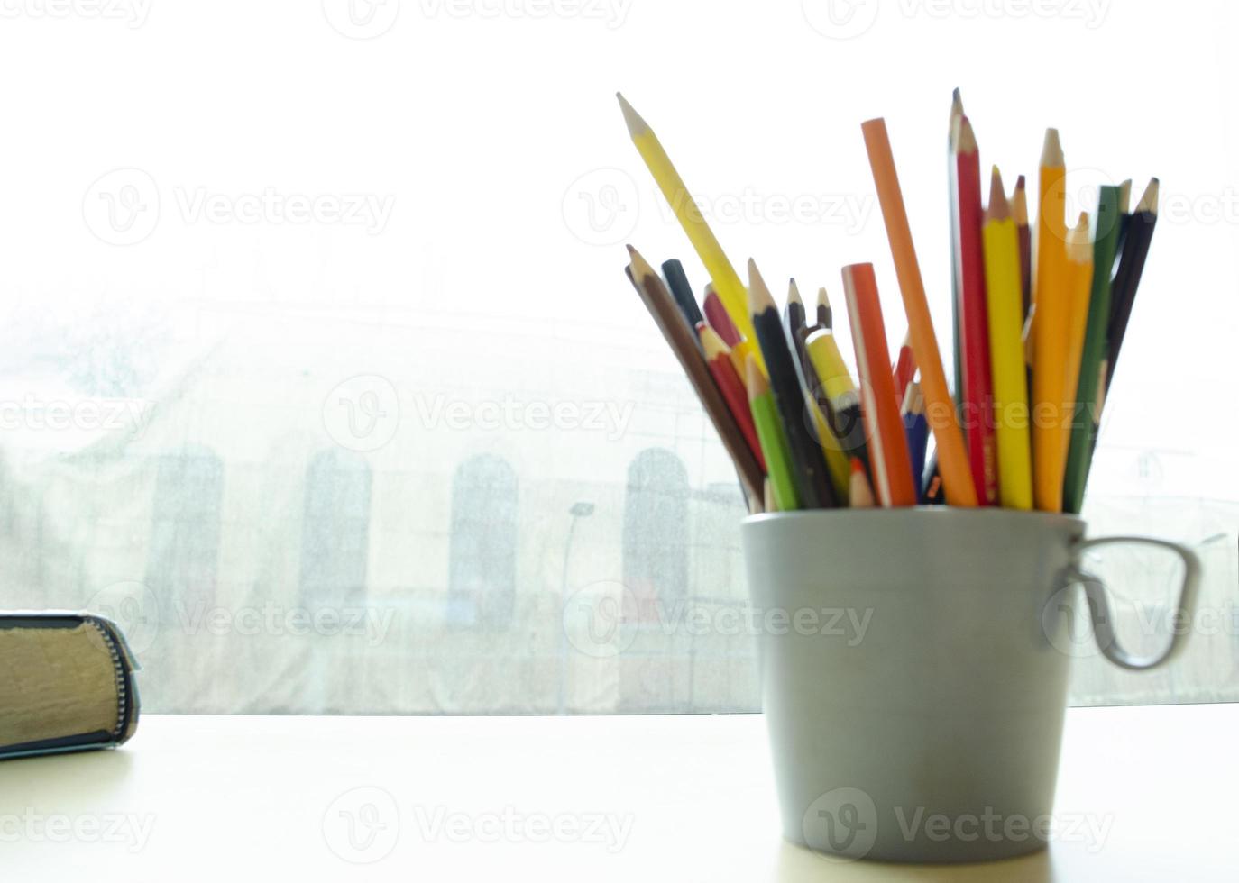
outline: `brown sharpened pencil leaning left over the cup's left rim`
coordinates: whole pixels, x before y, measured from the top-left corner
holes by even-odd
[[[748,445],[745,442],[745,437],[736,425],[735,417],[731,416],[722,394],[715,386],[710,369],[706,367],[705,359],[698,349],[696,341],[694,339],[695,336],[689,332],[675,306],[674,298],[654,269],[631,245],[628,246],[628,254],[631,258],[627,268],[629,281],[637,290],[642,303],[646,305],[646,308],[653,317],[658,329],[663,332],[663,337],[670,346],[675,358],[679,359],[684,373],[688,374],[693,390],[701,400],[706,415],[710,417],[720,438],[722,438],[724,447],[726,447],[727,453],[731,455],[731,459],[736,464],[745,494],[751,503],[761,500],[762,468],[757,463],[757,458],[753,457],[752,451],[748,450]]]

